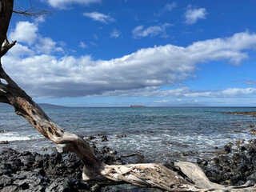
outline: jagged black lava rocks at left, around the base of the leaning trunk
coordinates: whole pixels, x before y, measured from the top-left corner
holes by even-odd
[[[106,136],[102,136],[106,138]],[[94,139],[93,137],[87,138]],[[120,165],[145,162],[141,154],[118,155],[107,146],[91,147],[104,163]],[[82,182],[82,162],[75,154],[52,154],[19,152],[13,149],[0,152],[0,191],[159,191],[124,186],[99,186],[92,182]],[[122,190],[120,190],[122,189]]]

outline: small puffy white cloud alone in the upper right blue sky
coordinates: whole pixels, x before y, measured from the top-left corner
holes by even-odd
[[[186,24],[194,24],[198,22],[198,19],[206,19],[206,8],[192,8],[191,5],[187,6],[186,9]]]

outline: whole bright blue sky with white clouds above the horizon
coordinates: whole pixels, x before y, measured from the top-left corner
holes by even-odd
[[[2,66],[35,102],[256,106],[254,0],[31,3],[50,15],[13,15]]]

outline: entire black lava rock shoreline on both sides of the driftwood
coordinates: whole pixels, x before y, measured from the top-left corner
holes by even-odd
[[[105,135],[98,135],[104,142]],[[146,162],[142,154],[118,154],[107,146],[97,147],[95,136],[87,139],[94,153],[106,164]],[[118,135],[124,138],[126,135]],[[256,139],[241,139],[227,143],[214,158],[198,158],[198,166],[204,170],[211,182],[240,186],[256,183]],[[174,162],[166,167],[180,171]],[[186,175],[182,175],[186,178]],[[7,149],[0,153],[0,190],[4,191],[160,191],[136,186],[99,186],[82,182],[82,162],[75,154],[38,154]],[[186,178],[188,179],[188,178]],[[188,180],[190,181],[190,180]],[[191,182],[191,181],[190,181]]]

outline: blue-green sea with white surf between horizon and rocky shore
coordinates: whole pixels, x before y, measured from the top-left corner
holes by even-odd
[[[228,111],[255,111],[242,107],[102,107],[48,109],[46,114],[62,128],[75,134],[90,136],[106,134],[109,146],[118,154],[138,152],[149,161],[168,162],[171,158],[186,160],[210,155],[228,142],[254,139],[250,124],[256,117],[223,114]],[[238,126],[240,125],[240,126]],[[50,153],[55,146],[13,109],[0,108],[0,150],[8,147]],[[126,134],[126,138],[117,138]],[[46,150],[48,149],[48,150]]]

